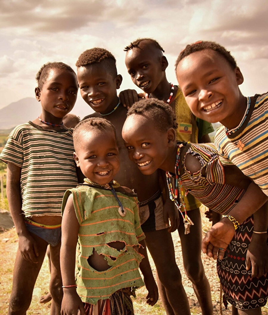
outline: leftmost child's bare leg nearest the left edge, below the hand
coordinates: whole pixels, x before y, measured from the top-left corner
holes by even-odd
[[[21,252],[17,251],[13,272],[13,286],[9,299],[8,315],[26,315],[38,273],[46,255],[47,243],[31,233],[38,248],[37,263],[26,261]]]

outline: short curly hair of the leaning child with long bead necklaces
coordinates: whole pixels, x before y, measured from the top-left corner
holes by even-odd
[[[133,114],[144,115],[153,121],[160,131],[167,131],[169,128],[177,129],[176,116],[170,105],[156,98],[141,99],[133,104],[127,116]]]

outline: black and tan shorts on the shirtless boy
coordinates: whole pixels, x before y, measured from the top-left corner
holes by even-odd
[[[153,232],[169,227],[169,224],[164,222],[163,208],[160,191],[148,201],[139,203],[139,220],[143,232]]]

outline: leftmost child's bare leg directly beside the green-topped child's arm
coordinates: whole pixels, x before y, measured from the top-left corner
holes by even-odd
[[[63,299],[62,278],[60,272],[60,247],[61,242],[59,242],[57,246],[50,245],[51,277],[49,291],[52,296],[50,308],[51,315],[60,315],[61,302]]]

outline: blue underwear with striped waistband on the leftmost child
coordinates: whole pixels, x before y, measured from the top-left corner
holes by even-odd
[[[51,246],[57,246],[61,240],[61,224],[44,225],[36,223],[27,218],[24,218],[26,228],[29,232],[39,236]]]

